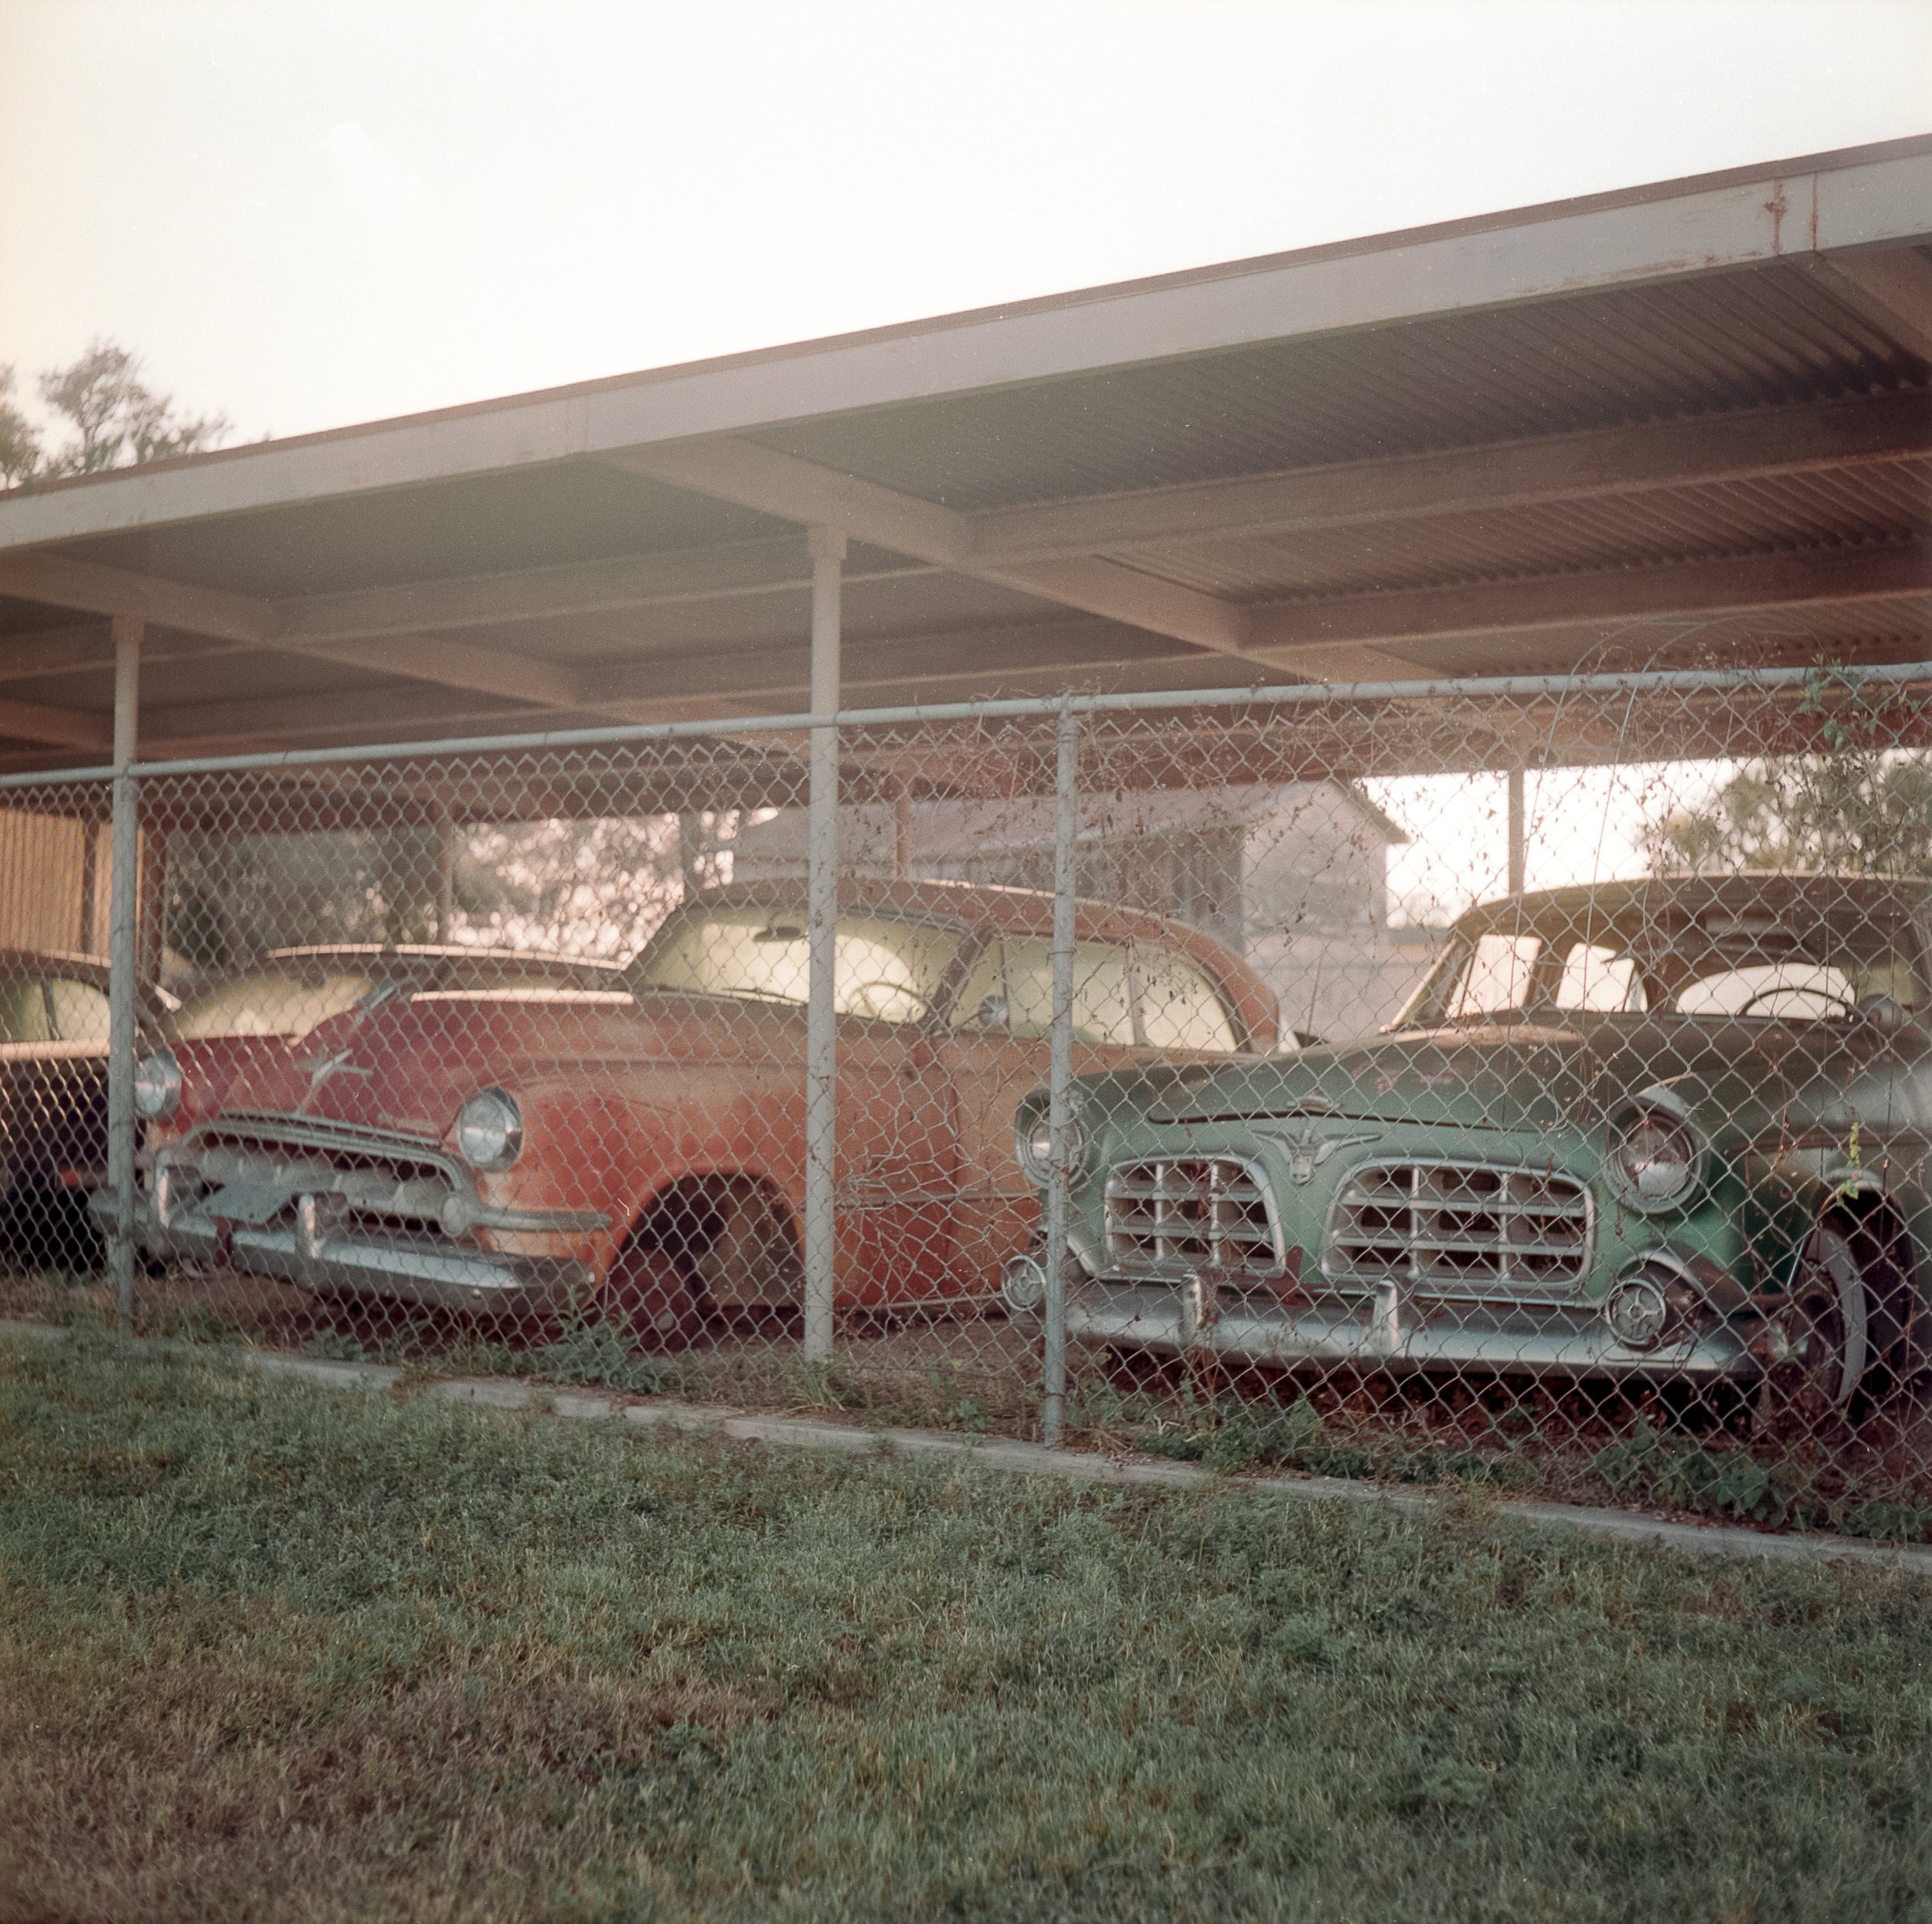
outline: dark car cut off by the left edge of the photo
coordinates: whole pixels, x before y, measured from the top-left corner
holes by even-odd
[[[172,999],[135,989],[137,1033],[166,1033]],[[108,964],[104,956],[0,950],[0,1246],[89,1267],[99,1238],[87,1192],[108,1155]]]

